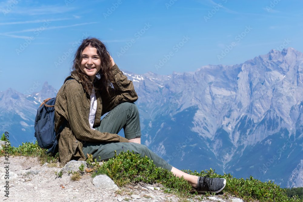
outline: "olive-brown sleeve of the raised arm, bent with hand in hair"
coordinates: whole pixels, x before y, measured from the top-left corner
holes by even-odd
[[[138,100],[132,81],[123,75],[116,64],[112,67],[112,73],[114,74],[114,82],[112,83],[114,88],[109,89],[109,95],[107,92],[101,92],[102,115],[122,102],[135,102]]]

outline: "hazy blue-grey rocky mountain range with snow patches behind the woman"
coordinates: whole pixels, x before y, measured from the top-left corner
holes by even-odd
[[[139,96],[142,143],[179,169],[302,187],[302,58],[288,48],[195,72],[123,71]],[[37,108],[56,93],[47,82],[31,95],[0,92],[0,129],[13,145],[35,140]]]

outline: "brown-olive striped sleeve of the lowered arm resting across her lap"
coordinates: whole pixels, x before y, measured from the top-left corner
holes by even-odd
[[[128,142],[124,137],[118,134],[101,133],[92,130],[86,123],[84,117],[88,117],[89,109],[85,109],[85,94],[83,87],[77,81],[72,81],[65,86],[65,97],[67,104],[68,117],[67,120],[72,129],[73,134],[79,140],[85,141],[116,141]],[[87,118],[88,121],[88,118]]]

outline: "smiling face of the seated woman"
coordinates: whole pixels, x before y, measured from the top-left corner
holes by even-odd
[[[97,54],[97,48],[88,46],[82,51],[81,69],[94,81],[96,74],[101,69],[101,58]]]

